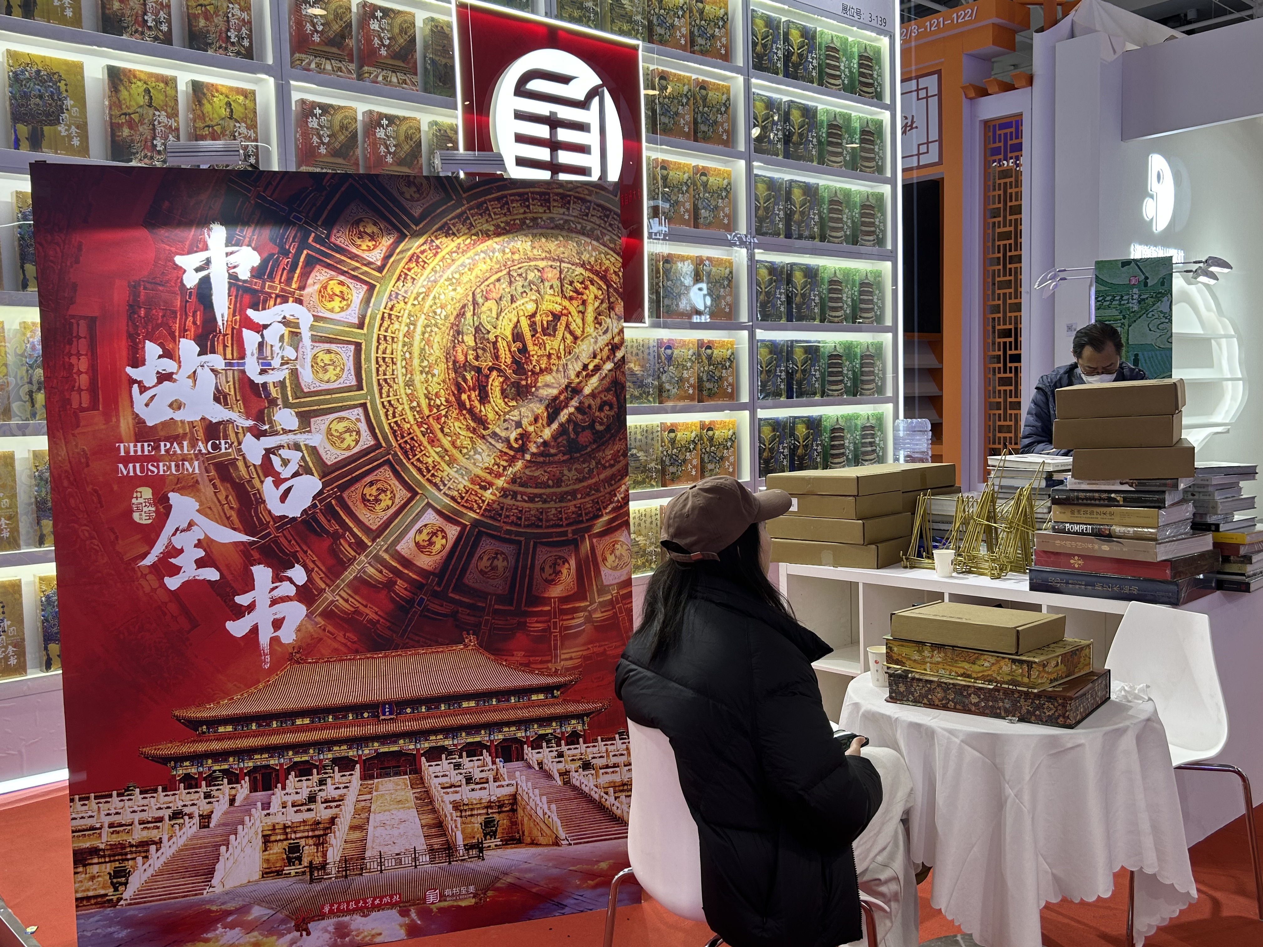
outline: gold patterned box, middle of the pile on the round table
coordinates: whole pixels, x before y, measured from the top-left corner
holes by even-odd
[[[887,638],[885,663],[935,677],[1043,689],[1091,670],[1092,643],[1063,638],[1026,654],[998,654]]]

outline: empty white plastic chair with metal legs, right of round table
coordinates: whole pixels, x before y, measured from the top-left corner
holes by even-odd
[[[1263,869],[1254,833],[1250,780],[1238,769],[1214,759],[1228,742],[1228,711],[1215,669],[1210,619],[1200,612],[1132,602],[1119,622],[1105,657],[1114,681],[1148,684],[1149,697],[1167,731],[1171,763],[1176,769],[1233,773],[1245,797],[1245,831],[1254,864],[1254,895],[1263,920]],[[1134,938],[1135,875],[1128,883],[1127,943]]]

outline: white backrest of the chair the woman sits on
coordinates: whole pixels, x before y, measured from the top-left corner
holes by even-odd
[[[628,857],[635,880],[672,914],[706,920],[697,823],[679,789],[676,751],[661,730],[628,721],[632,813]]]

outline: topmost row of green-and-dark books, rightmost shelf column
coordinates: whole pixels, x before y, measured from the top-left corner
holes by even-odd
[[[750,63],[772,76],[861,98],[885,98],[879,43],[853,39],[767,10],[750,10]]]

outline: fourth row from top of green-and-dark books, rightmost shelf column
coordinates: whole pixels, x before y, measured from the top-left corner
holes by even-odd
[[[759,322],[885,325],[885,288],[879,269],[781,263],[759,256],[754,293]]]

